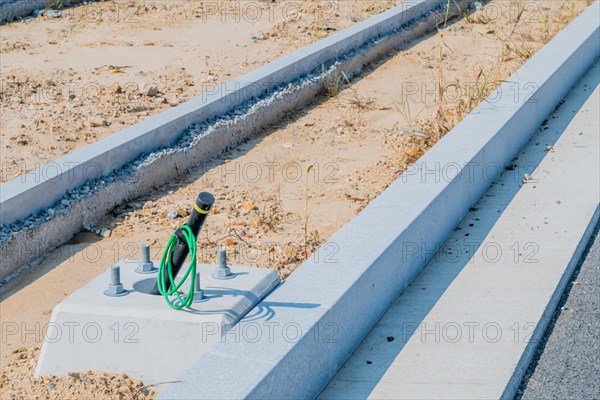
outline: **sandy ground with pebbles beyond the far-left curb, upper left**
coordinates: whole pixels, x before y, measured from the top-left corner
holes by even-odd
[[[118,0],[3,25],[0,182],[394,3]]]

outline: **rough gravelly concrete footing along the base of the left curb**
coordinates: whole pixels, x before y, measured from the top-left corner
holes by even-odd
[[[427,13],[431,3],[427,2],[428,6],[424,8],[426,11],[423,12]],[[459,2],[459,4],[466,3],[466,1]],[[387,21],[389,18],[385,20]],[[199,133],[200,128],[196,129],[192,124],[192,128],[188,128],[186,132],[194,129],[196,132],[184,134],[177,141],[179,144],[165,146],[162,148],[163,150],[143,155],[108,176],[96,178],[87,181],[82,186],[69,189],[69,193],[62,197],[63,200],[67,199],[65,200],[68,203],[67,206],[62,206],[61,200],[59,200],[52,207],[44,210],[42,215],[36,214],[29,217],[23,224],[18,221],[11,225],[0,226],[2,230],[10,233],[2,235],[9,236],[8,240],[1,240],[0,237],[2,259],[0,279],[6,281],[29,265],[35,265],[41,257],[68,241],[83,227],[93,225],[122,202],[147,193],[153,187],[172,179],[187,168],[201,164],[211,156],[234,146],[256,133],[261,127],[280,119],[289,110],[305,104],[322,90],[326,80],[336,71],[343,70],[348,74],[358,72],[365,64],[376,60],[382,54],[393,51],[405,42],[423,35],[435,26],[435,22],[434,16],[427,15],[417,21],[411,21],[408,26],[405,25],[397,32],[376,36],[375,39],[363,44],[360,49],[351,52],[346,58],[332,61],[325,72],[301,78],[297,87],[288,84],[283,89],[272,93],[270,97],[267,97],[267,100],[271,101],[268,110],[264,107],[262,110],[260,109],[261,101],[264,102],[265,99],[244,103],[241,101],[242,98],[240,107],[246,107],[244,118],[238,118],[240,114],[238,112],[234,113],[233,117],[227,116],[228,120],[225,121],[213,119],[212,121],[216,122],[206,122],[202,126],[210,128],[207,128],[210,130],[208,134],[206,132]],[[319,65],[324,68],[324,64]],[[320,67],[317,66],[316,69],[318,70]],[[198,101],[198,99],[190,102],[193,101]],[[191,106],[188,104],[186,107]],[[157,117],[160,117],[160,114]],[[198,126],[200,125],[198,124]],[[89,150],[83,148],[81,151]],[[14,184],[14,182],[9,184]],[[6,186],[2,185],[3,192],[5,188]],[[41,198],[40,196],[33,197]],[[5,205],[2,204],[1,209],[4,209]],[[52,215],[49,215],[50,211]],[[5,212],[7,211],[5,210]]]

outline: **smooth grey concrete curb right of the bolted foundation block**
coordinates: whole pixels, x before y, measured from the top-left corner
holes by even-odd
[[[534,55],[159,398],[314,398],[596,61],[599,10]],[[515,85],[536,90],[515,96]]]

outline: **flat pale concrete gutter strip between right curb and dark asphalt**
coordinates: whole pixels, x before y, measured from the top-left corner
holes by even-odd
[[[598,220],[599,72],[540,127],[321,399],[514,395]]]

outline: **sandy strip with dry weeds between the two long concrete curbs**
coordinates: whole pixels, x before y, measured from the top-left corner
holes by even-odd
[[[151,243],[159,258],[201,190],[215,193],[217,203],[199,240],[200,258],[213,261],[225,244],[233,263],[276,268],[286,277],[587,4],[492,2],[454,24],[442,22],[439,32],[351,85],[340,76],[329,96],[115,210],[97,231],[80,234],[5,285],[3,319],[43,326],[64,297],[113,262],[137,258],[140,243]],[[335,262],[337,250],[331,243],[314,256]],[[25,339],[3,343],[5,368],[14,368],[12,349],[41,345]]]

